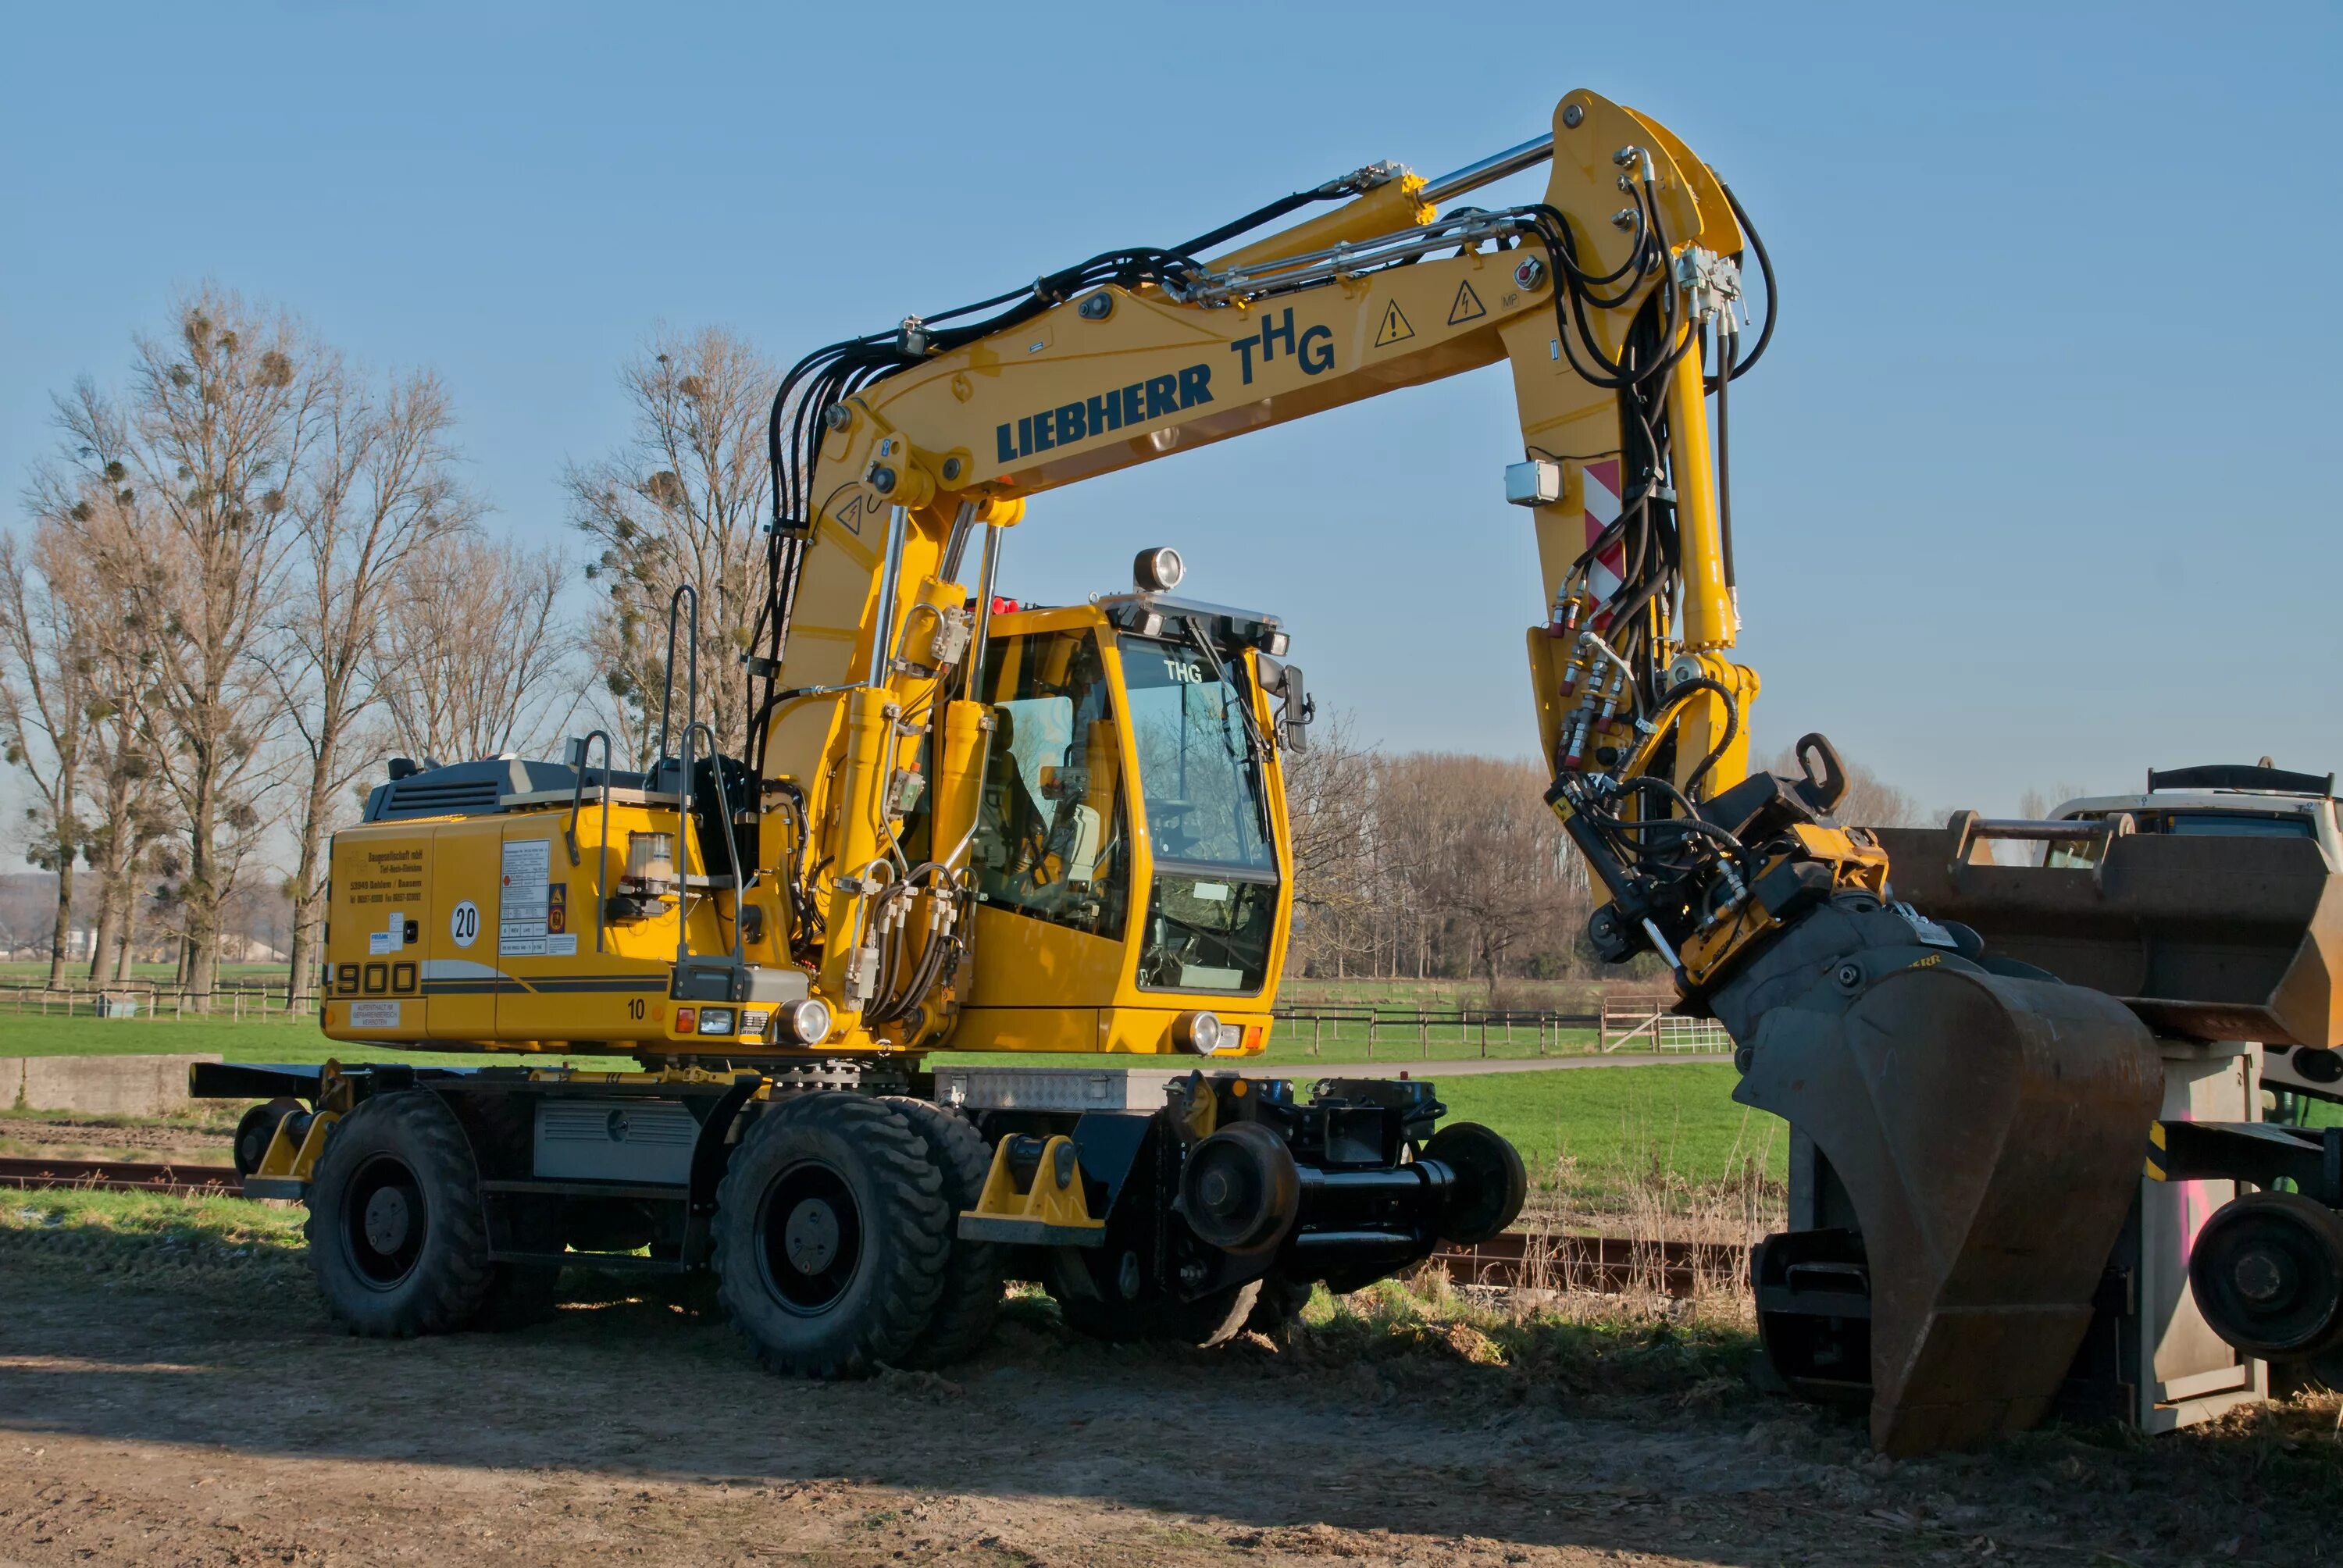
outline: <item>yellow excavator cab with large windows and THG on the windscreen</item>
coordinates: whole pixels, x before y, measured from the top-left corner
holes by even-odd
[[[1263,1048],[1307,710],[1284,647],[1275,616],[1160,591],[993,616],[956,1048]]]

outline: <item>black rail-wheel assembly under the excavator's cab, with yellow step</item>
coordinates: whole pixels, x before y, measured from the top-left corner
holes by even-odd
[[[1300,1102],[1282,1078],[1164,1078],[940,1069],[937,1097],[993,1139],[958,1233],[1026,1249],[1012,1273],[1061,1301],[1148,1313],[1254,1280],[1352,1291],[1521,1214],[1521,1155],[1474,1123],[1434,1132],[1429,1083],[1324,1078]],[[1068,1127],[1071,1085],[1094,1095]]]

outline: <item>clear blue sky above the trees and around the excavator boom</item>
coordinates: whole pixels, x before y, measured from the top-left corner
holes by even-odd
[[[49,394],[218,279],[438,368],[494,527],[569,537],[656,321],[778,363],[1593,87],[1741,192],[1783,281],[1734,396],[1762,745],[1933,806],[2149,764],[2343,766],[2343,12],[2252,7],[19,7],[0,480]],[[1516,180],[1474,197],[1528,195]],[[1394,748],[1528,752],[1502,370],[1043,497],[1005,577],[1286,614]]]

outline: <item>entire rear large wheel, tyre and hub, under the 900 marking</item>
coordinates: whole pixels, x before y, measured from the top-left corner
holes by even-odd
[[[487,1296],[480,1177],[455,1113],[424,1090],[358,1104],[309,1184],[309,1270],[368,1338],[445,1334]]]

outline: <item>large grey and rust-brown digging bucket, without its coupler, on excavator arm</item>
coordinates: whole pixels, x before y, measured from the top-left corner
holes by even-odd
[[[1764,1013],[1734,1097],[1811,1137],[1846,1188],[1884,1453],[2048,1413],[2130,1207],[2160,1071],[2111,996],[1952,956]]]

